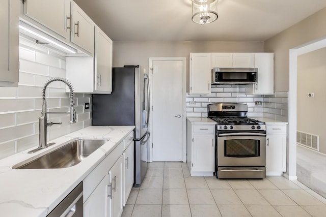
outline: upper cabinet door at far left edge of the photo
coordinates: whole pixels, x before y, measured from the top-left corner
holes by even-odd
[[[19,0],[0,2],[0,86],[18,84],[19,7]]]

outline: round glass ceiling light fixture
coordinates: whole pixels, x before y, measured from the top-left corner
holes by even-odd
[[[192,2],[193,22],[198,24],[206,24],[218,19],[219,0],[192,0]]]

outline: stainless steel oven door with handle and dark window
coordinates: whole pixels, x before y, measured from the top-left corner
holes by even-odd
[[[217,141],[218,167],[266,165],[266,133],[219,133]]]

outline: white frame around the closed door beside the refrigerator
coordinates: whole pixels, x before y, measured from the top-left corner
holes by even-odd
[[[152,94],[152,70],[153,69],[153,61],[182,61],[183,64],[183,70],[182,70],[182,160],[183,162],[186,162],[186,57],[149,57],[149,69],[148,69],[148,75],[149,75],[149,89],[150,89],[150,99],[151,102],[153,102],[153,94]],[[150,111],[152,105],[150,105]],[[153,130],[151,126],[153,126],[153,116],[152,112],[149,113],[149,133],[153,135]],[[148,162],[153,162],[153,136],[149,139],[149,159]]]

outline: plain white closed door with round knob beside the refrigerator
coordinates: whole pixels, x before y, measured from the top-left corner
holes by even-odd
[[[185,162],[185,58],[150,58],[152,161]]]

